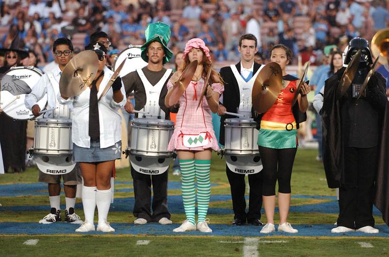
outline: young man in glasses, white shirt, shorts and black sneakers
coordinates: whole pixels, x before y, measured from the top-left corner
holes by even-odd
[[[53,109],[57,107],[56,95],[59,92],[59,80],[61,79],[62,71],[66,64],[71,60],[73,55],[73,45],[71,41],[66,37],[58,38],[53,43],[53,55],[57,63],[55,68],[43,76],[36,82],[30,94],[26,95],[24,104],[26,108],[31,110],[35,116],[39,116],[40,107],[38,101],[45,95],[47,96],[47,109]],[[70,105],[71,109],[72,106]],[[44,118],[53,118],[53,112],[45,112]],[[67,119],[70,118],[68,115]],[[52,224],[57,221],[62,221],[60,203],[61,193],[61,177],[63,178],[64,191],[65,191],[65,221],[81,224],[82,220],[74,213],[74,205],[76,202],[77,185],[82,184],[81,170],[78,164],[69,173],[63,175],[51,175],[43,173],[39,170],[38,182],[48,184],[49,199],[51,210],[49,215],[39,221],[40,224]]]

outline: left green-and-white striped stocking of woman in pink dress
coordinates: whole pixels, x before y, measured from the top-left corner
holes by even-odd
[[[179,160],[179,167],[181,169],[182,183],[182,200],[184,202],[184,209],[186,218],[193,225],[195,224],[195,159]]]

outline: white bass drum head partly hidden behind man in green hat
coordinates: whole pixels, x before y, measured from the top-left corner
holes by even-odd
[[[127,61],[119,73],[120,77],[147,65],[147,63],[141,58],[141,46],[130,45],[128,48],[125,48],[122,52],[120,52],[113,64],[113,70],[116,71],[125,59],[127,59]]]

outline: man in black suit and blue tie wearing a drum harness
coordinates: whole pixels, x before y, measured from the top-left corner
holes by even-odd
[[[224,81],[223,103],[219,103],[217,114],[220,120],[219,143],[225,145],[225,120],[226,118],[236,118],[225,112],[244,114],[245,118],[251,117],[251,91],[255,79],[262,67],[254,62],[254,54],[258,51],[257,38],[252,34],[245,34],[239,40],[239,52],[241,61],[236,65],[230,65],[220,69],[220,76]],[[255,139],[256,140],[256,139]],[[262,183],[263,176],[262,162],[246,163],[255,165],[255,173],[248,175],[250,186],[248,213],[246,213],[246,183],[245,174],[241,171],[247,170],[246,166],[234,166],[226,157],[226,173],[231,187],[232,208],[234,211],[234,221],[232,225],[244,225],[246,222],[252,225],[263,225],[261,219],[262,208]],[[250,168],[251,169],[251,168]]]

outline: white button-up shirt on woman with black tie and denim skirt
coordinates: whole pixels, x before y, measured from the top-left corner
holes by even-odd
[[[97,98],[100,98],[106,84],[112,77],[113,71],[107,67],[104,68],[104,77],[100,83]],[[123,84],[123,83],[122,83]],[[113,90],[110,88],[106,95],[98,102],[99,104],[99,118],[100,118],[100,147],[106,148],[115,145],[116,142],[122,140],[122,117],[118,110],[125,105],[126,98],[124,86],[121,88],[123,100],[117,103],[113,100]],[[90,88],[82,92],[78,96],[70,97],[67,100],[61,97],[58,93],[57,98],[61,104],[73,103],[72,111],[72,131],[71,138],[74,144],[89,148],[89,96]]]

